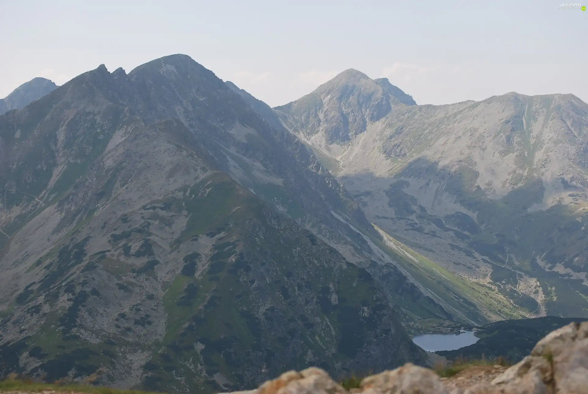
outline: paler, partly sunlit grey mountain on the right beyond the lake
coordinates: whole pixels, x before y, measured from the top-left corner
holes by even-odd
[[[523,316],[588,317],[588,104],[403,95],[350,69],[273,110],[408,257],[396,261],[415,282],[474,304],[464,286],[492,288],[507,303],[490,320],[516,317],[509,303]]]

